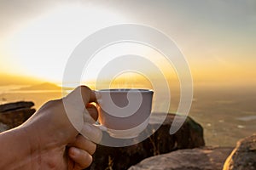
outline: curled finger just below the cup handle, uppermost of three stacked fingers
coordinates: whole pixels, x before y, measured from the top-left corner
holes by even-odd
[[[90,124],[89,122],[84,123],[84,126],[80,133],[96,144],[100,143],[100,141],[102,140],[102,130],[95,125]]]

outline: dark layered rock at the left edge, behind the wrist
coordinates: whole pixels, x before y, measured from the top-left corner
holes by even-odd
[[[32,102],[16,102],[0,105],[0,132],[17,127],[25,122],[36,111]]]

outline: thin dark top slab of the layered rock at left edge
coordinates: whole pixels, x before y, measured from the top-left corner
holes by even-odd
[[[0,105],[0,112],[14,111],[20,108],[31,108],[32,106],[34,106],[33,102],[19,101],[15,103]]]

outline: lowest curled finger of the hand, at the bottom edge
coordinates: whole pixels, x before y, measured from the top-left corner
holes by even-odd
[[[80,150],[79,148],[69,148],[68,156],[76,162],[73,169],[84,169],[85,167],[89,167],[92,162],[92,156],[85,150]]]

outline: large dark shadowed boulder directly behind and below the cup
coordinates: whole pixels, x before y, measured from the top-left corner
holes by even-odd
[[[143,133],[148,133],[148,131],[154,132],[156,127],[159,127],[159,129],[148,139],[143,140],[143,142],[126,147],[108,147],[97,144],[96,153],[93,156],[94,161],[91,166],[86,169],[127,169],[131,167],[131,165],[135,165],[149,156],[205,145],[203,128],[200,124],[190,117],[187,117],[183,126],[177,133],[170,135],[169,130],[175,115],[165,115],[166,119],[162,125],[154,121],[159,116],[163,115],[164,114],[157,113],[152,116],[147,131]],[[108,133],[103,133],[103,135],[108,135]]]

